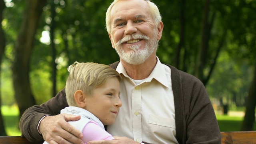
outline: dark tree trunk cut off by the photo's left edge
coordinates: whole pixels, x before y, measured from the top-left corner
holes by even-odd
[[[0,0],[0,22],[3,20],[3,11],[5,8],[5,4],[3,0]],[[4,37],[4,30],[2,29],[2,25],[0,26],[0,78],[1,78],[1,64],[2,64],[2,58],[4,56],[4,49],[5,49],[5,37]],[[0,82],[1,87],[1,82]],[[1,112],[1,106],[2,106],[2,96],[1,96],[1,89],[0,89],[0,136],[6,136],[6,131],[4,128],[4,118],[2,116]]]

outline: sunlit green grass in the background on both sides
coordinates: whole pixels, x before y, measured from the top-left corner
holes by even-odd
[[[5,130],[8,136],[20,136],[21,132],[19,129],[19,112],[18,106],[2,106],[1,112],[4,117]],[[240,131],[242,127],[243,117],[242,116],[228,116],[216,114],[220,131],[232,132]],[[254,123],[254,130],[256,130],[256,124]]]

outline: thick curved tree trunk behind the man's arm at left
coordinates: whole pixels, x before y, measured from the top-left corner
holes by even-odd
[[[46,0],[27,0],[23,21],[18,34],[14,50],[14,62],[12,65],[14,96],[20,110],[23,112],[35,104],[29,81],[30,56],[33,49],[34,35],[38,26],[38,20],[42,14],[42,8]]]

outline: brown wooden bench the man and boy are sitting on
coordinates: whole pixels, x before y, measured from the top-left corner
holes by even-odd
[[[221,132],[222,144],[256,144],[256,131]],[[32,143],[21,136],[0,136],[0,144],[42,144]]]

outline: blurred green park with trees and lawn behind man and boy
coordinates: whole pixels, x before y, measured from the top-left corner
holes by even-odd
[[[161,62],[203,82],[221,131],[255,130],[256,0],[152,1]],[[0,135],[20,135],[20,115],[62,90],[73,62],[119,60],[105,29],[111,2],[0,0]]]

